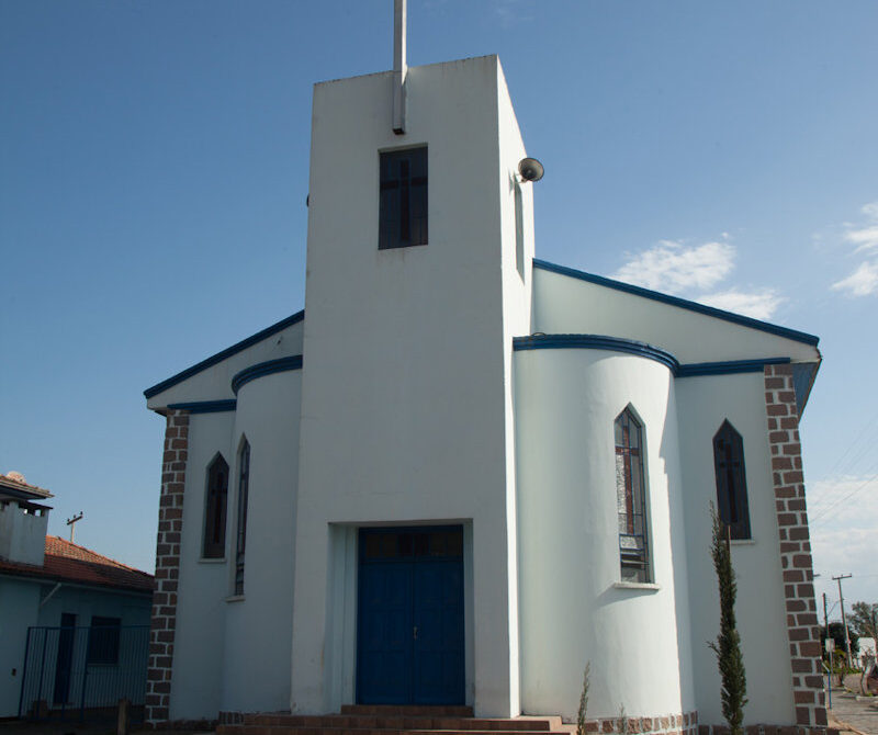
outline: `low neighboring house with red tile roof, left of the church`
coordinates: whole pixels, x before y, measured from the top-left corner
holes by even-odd
[[[153,576],[47,536],[50,497],[0,475],[0,717],[143,702]]]

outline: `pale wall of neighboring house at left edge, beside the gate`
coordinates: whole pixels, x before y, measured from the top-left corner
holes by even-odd
[[[0,717],[19,714],[27,627],[38,604],[40,585],[0,577]]]

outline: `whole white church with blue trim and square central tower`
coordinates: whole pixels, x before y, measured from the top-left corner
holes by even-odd
[[[394,71],[314,88],[304,312],[145,392],[148,717],[575,722],[590,662],[590,730],[710,732],[713,504],[745,724],[822,731],[818,339],[534,259],[498,58],[406,68],[399,35]]]

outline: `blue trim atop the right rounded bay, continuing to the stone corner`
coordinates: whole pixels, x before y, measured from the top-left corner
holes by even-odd
[[[724,362],[691,362],[680,364],[666,350],[646,342],[605,335],[530,335],[514,337],[513,350],[607,350],[626,352],[660,362],[671,370],[674,377],[695,377],[698,375],[732,375],[734,373],[761,373],[765,365],[781,365],[789,358],[758,358],[755,360],[727,360]]]

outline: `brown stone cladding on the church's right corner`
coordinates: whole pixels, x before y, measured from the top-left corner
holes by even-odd
[[[775,491],[787,611],[787,637],[792,668],[792,697],[798,725],[798,727],[781,727],[780,731],[784,732],[773,731],[768,735],[801,735],[802,731],[809,728],[815,732],[825,731],[826,709],[823,702],[820,627],[814,600],[811,540],[804,504],[799,415],[792,366],[766,365],[764,377],[772,484]]]

